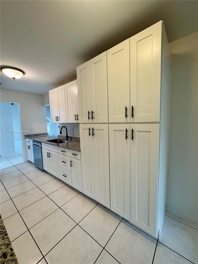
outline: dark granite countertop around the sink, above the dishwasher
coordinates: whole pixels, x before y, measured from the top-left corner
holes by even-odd
[[[38,134],[36,134],[36,135],[38,135]],[[65,149],[71,149],[71,150],[75,150],[75,151],[80,152],[80,137],[77,137],[77,136],[69,136],[69,139],[68,139],[69,142],[60,143],[60,144],[49,142],[48,140],[58,139],[58,138],[62,139],[62,140],[66,140],[66,136],[62,136],[62,135],[49,136],[48,134],[45,133],[42,136],[41,135],[35,136],[35,134],[29,134],[29,135],[24,135],[24,137],[28,138],[28,139],[32,139],[32,140],[37,141],[37,142],[46,143],[49,145],[54,145],[57,147],[61,147],[61,148],[65,148]]]

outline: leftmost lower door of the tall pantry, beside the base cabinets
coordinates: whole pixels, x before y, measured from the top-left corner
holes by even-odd
[[[80,124],[80,150],[83,193],[94,199],[93,139],[89,124]]]

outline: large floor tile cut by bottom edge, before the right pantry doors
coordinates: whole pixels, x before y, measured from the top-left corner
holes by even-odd
[[[152,263],[157,241],[122,220],[105,249],[120,263]]]

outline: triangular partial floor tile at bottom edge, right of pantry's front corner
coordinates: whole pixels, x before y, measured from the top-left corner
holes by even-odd
[[[153,264],[190,264],[192,262],[188,261],[186,258],[183,258],[173,250],[162,245],[160,242],[157,242],[157,248],[155,252],[155,257]]]

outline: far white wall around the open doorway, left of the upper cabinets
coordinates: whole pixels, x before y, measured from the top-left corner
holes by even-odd
[[[31,128],[34,128],[35,130],[40,130],[41,133],[47,132],[46,109],[42,105],[42,95],[37,95],[33,93],[23,93],[6,89],[1,89],[1,92],[1,102],[19,103],[21,127],[23,131],[30,131]],[[24,152],[24,161],[27,161],[24,139],[25,134],[28,133],[23,134],[22,144]]]

